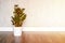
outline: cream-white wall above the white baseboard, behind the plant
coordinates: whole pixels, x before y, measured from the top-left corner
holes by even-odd
[[[26,9],[23,26],[65,26],[65,0],[1,0],[0,26],[12,26],[14,4]]]

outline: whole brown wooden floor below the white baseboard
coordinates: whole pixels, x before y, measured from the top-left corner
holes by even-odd
[[[0,32],[0,43],[65,43],[65,32],[25,31],[21,37]]]

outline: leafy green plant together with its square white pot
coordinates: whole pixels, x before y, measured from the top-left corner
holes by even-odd
[[[24,20],[26,19],[26,14],[24,13],[25,9],[21,9],[18,8],[18,4],[14,5],[14,12],[13,12],[13,16],[12,16],[12,25],[14,26],[14,34],[18,35],[22,32],[22,26]]]

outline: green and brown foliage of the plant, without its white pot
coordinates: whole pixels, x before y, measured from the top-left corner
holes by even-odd
[[[14,12],[13,12],[14,16],[12,16],[12,24],[15,27],[22,27],[23,26],[23,23],[26,19],[26,14],[24,13],[24,10],[25,9],[18,8],[17,4],[14,5]]]

